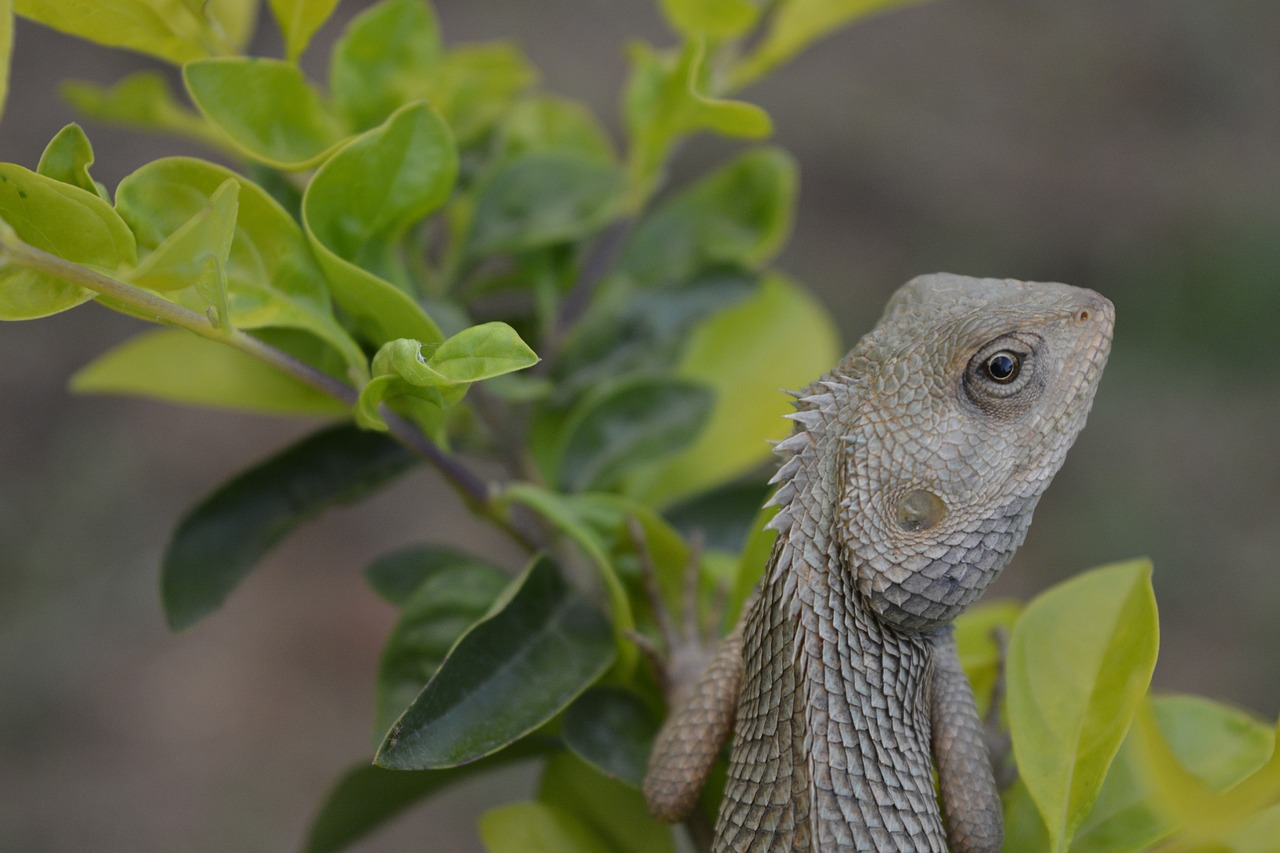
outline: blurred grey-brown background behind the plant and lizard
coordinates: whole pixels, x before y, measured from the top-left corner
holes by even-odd
[[[307,54],[366,4],[347,0]],[[617,126],[645,0],[438,0],[451,41],[511,38]],[[1156,685],[1280,711],[1280,4],[941,0],[829,38],[746,92],[800,161],[781,266],[852,345],[908,278],[1064,280],[1116,304],[1089,428],[995,596],[1156,564]],[[253,46],[279,55],[264,19]],[[18,22],[0,160],[35,168],[67,78],[150,60]],[[109,187],[201,154],[86,122]],[[689,145],[695,174],[727,145]],[[69,374],[140,330],[86,306],[0,327],[0,850],[287,850],[370,754],[393,621],[360,571],[411,542],[513,565],[429,473],[291,538],[215,616],[165,629],[182,512],[314,424],[78,398]],[[1082,624],[1089,613],[1080,613]],[[508,774],[527,785],[527,771]],[[479,849],[481,781],[361,850]]]

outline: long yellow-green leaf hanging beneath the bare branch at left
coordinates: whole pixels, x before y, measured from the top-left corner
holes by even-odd
[[[129,338],[81,368],[70,388],[266,415],[347,412],[333,397],[265,361],[183,329],[155,329]]]

